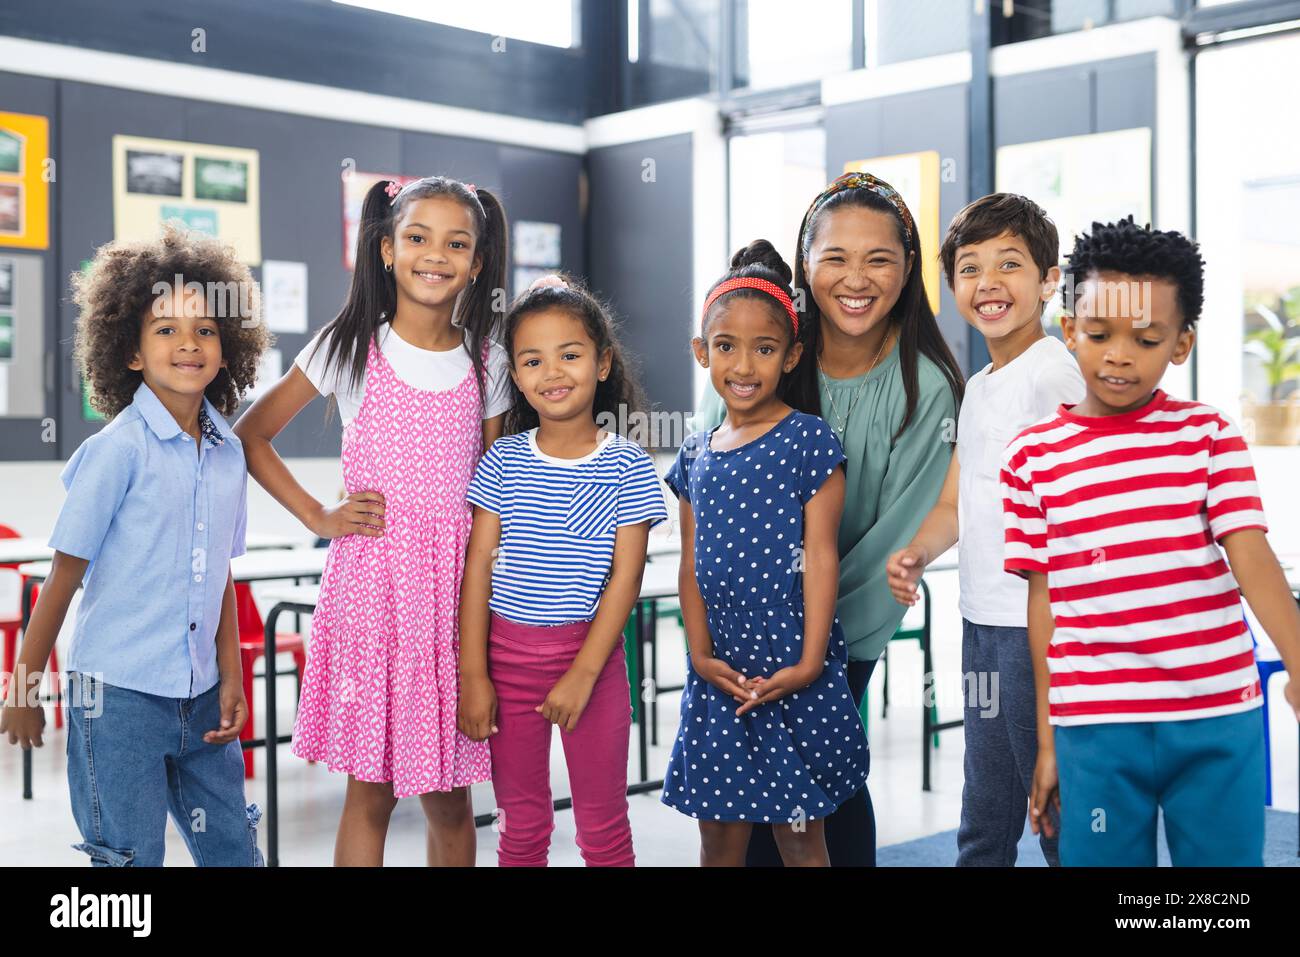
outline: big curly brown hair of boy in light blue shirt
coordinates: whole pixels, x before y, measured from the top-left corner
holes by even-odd
[[[73,356],[90,386],[90,404],[104,416],[112,419],[131,404],[143,376],[126,365],[140,348],[140,325],[159,299],[159,283],[172,289],[177,277],[185,286],[198,282],[204,290],[238,295],[238,308],[217,309],[224,315],[211,317],[226,365],[204,390],[208,400],[222,415],[234,415],[257,377],[257,361],[272,337],[252,273],[230,246],[166,224],[157,239],[101,246],[90,267],[72,276],[73,302],[81,308]],[[229,295],[225,302],[230,303]]]

